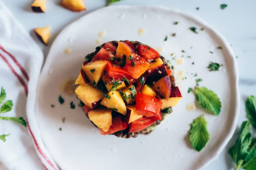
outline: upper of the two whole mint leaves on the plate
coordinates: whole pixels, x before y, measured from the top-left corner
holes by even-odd
[[[213,113],[214,115],[219,115],[221,111],[221,101],[220,98],[211,90],[206,87],[196,87],[195,96],[198,104]]]

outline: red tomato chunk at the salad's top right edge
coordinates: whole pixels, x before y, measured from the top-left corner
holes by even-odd
[[[159,53],[147,45],[138,45],[138,54],[145,60],[159,58]]]

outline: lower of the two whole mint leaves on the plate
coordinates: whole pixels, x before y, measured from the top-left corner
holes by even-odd
[[[189,140],[192,148],[198,152],[201,151],[209,140],[209,136],[207,122],[204,116],[194,119],[189,130]]]

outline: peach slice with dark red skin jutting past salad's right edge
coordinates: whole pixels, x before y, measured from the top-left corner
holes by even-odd
[[[162,110],[171,107],[171,106],[176,106],[179,102],[179,100],[182,98],[182,95],[179,91],[179,87],[172,87],[172,93],[170,95],[170,98],[168,99],[161,99],[163,105],[162,105]]]

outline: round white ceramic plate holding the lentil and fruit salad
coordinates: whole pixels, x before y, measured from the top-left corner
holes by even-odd
[[[173,24],[175,21],[179,24]],[[189,30],[192,26],[197,28],[198,34]],[[145,29],[143,36],[138,35],[139,28]],[[63,94],[59,88],[67,77],[77,77],[84,56],[98,46],[96,39],[102,30],[107,31],[102,43],[138,40],[154,48],[162,47],[161,54],[174,64],[183,99],[150,135],[130,139],[100,135],[77,106],[78,99]],[[176,37],[172,37],[172,33],[176,33]],[[164,41],[166,35],[168,40]],[[217,49],[218,46],[223,49]],[[72,52],[65,54],[68,47]],[[171,53],[182,58],[184,64],[176,64]],[[207,69],[210,61],[221,63],[223,67],[210,72]],[[183,74],[178,76],[180,71]],[[198,76],[194,77],[195,73]],[[237,77],[230,45],[200,18],[163,7],[111,6],[81,17],[56,38],[39,79],[36,117],[46,147],[64,170],[197,169],[216,157],[234,132],[239,107]],[[195,86],[196,78],[202,78],[200,86],[213,90],[221,99],[219,116],[205,112],[197,104],[196,110],[186,110],[187,103],[195,102],[194,95],[187,90]],[[58,102],[60,94],[65,99],[63,105]],[[76,104],[75,110],[70,108],[71,101]],[[51,104],[55,107],[51,108]],[[197,152],[191,149],[188,130],[193,119],[201,114],[205,114],[208,121],[210,139],[203,150]],[[62,123],[63,117],[65,123]]]

